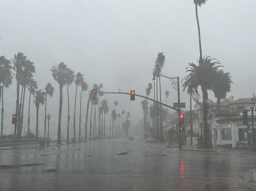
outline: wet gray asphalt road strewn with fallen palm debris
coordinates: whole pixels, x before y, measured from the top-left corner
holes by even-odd
[[[0,169],[0,190],[256,190],[256,153],[165,146],[116,138],[0,150],[0,165],[44,163]]]

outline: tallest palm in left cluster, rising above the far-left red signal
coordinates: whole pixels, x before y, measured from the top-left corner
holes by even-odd
[[[21,79],[21,71],[24,68],[24,63],[26,62],[27,57],[21,53],[18,52],[17,54],[14,54],[14,59],[11,59],[13,64],[14,64],[14,71],[16,71],[16,81],[17,81],[17,87],[16,87],[16,116],[18,116],[17,121],[14,125],[14,134],[18,135],[18,139],[19,139],[19,127],[20,127],[20,113],[19,113],[19,82]],[[17,132],[16,132],[17,131]]]

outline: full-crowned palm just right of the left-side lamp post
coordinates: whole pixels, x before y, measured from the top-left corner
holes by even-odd
[[[60,88],[60,105],[59,105],[59,118],[58,118],[58,138],[57,144],[61,144],[60,133],[61,133],[61,114],[63,104],[63,86],[67,84],[67,76],[69,74],[67,65],[64,62],[60,62],[58,66],[53,66],[51,69],[53,79],[58,82]]]

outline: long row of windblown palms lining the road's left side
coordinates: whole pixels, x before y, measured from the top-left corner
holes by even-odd
[[[12,65],[12,63],[13,65]],[[30,136],[30,102],[31,102],[31,95],[34,97],[33,103],[35,103],[36,107],[36,133],[35,137],[38,138],[38,126],[39,126],[39,107],[40,105],[45,104],[45,118],[44,118],[44,138],[46,136],[46,114],[47,114],[47,95],[52,97],[54,93],[54,88],[51,83],[47,83],[43,91],[42,89],[38,90],[37,81],[33,79],[33,74],[35,73],[36,69],[34,66],[34,63],[27,59],[27,57],[21,53],[18,52],[14,55],[14,58],[8,60],[4,56],[0,57],[0,98],[2,98],[2,110],[1,110],[1,138],[3,134],[4,129],[4,87],[8,88],[12,84],[13,76],[16,77],[16,83],[17,83],[17,100],[16,100],[16,116],[17,116],[17,122],[15,124],[14,128],[14,134],[17,136],[18,141],[21,140],[21,133],[23,129],[23,118],[24,118],[24,105],[25,105],[25,90],[28,89],[30,91],[29,93],[29,101],[28,101],[28,129],[27,129],[27,135]],[[15,73],[14,73],[15,72]],[[61,143],[60,141],[60,131],[61,131],[61,114],[62,114],[62,105],[63,105],[63,87],[67,85],[67,98],[68,98],[68,122],[67,122],[67,143],[69,142],[69,124],[70,124],[70,107],[69,107],[69,93],[68,93],[68,87],[74,82],[76,85],[75,89],[75,105],[74,105],[74,123],[73,123],[73,129],[74,129],[74,141],[75,141],[75,130],[76,130],[76,124],[75,124],[75,111],[76,111],[76,100],[77,100],[77,88],[78,86],[81,86],[81,93],[80,93],[80,110],[79,110],[79,140],[81,141],[81,104],[82,104],[82,92],[88,90],[88,85],[86,82],[84,82],[83,75],[78,72],[76,75],[72,69],[68,68],[67,65],[64,64],[64,62],[60,62],[57,66],[53,66],[51,69],[53,79],[58,82],[59,89],[60,89],[60,105],[59,105],[59,118],[58,118],[58,141],[57,143]],[[21,88],[21,93],[19,92]],[[103,84],[97,85],[95,84],[93,86],[94,89],[97,89],[100,91],[103,88]],[[19,100],[20,99],[20,100]],[[91,91],[89,91],[89,98],[88,98],[88,104],[87,104],[87,113],[86,113],[86,132],[85,137],[87,137],[87,123],[88,123],[88,110],[89,110],[89,103],[91,102],[91,114],[92,114],[92,107],[95,105],[95,113],[94,113],[94,122],[93,122],[93,138],[102,138],[105,137],[105,114],[107,114],[109,108],[107,106],[107,100],[103,100],[100,102],[102,105],[98,107],[98,135],[96,135],[96,105],[99,106],[99,100],[92,100],[91,99]],[[118,102],[115,101],[115,109],[114,112],[116,112],[116,106]],[[103,112],[104,112],[104,124],[103,124]],[[129,112],[128,112],[129,113]],[[122,111],[122,116],[124,114],[124,110]],[[130,115],[130,113],[129,113]],[[102,117],[102,124],[100,124],[100,117]],[[116,121],[116,117],[113,115],[112,117],[112,123],[113,121]],[[120,114],[117,114],[117,117],[120,117]],[[115,122],[116,123],[116,122]],[[122,123],[122,119],[121,119]],[[103,132],[103,126],[104,126],[104,132]],[[118,121],[119,126],[119,121]],[[92,127],[92,115],[90,120],[90,138],[91,138],[91,127]],[[101,129],[101,131],[100,131]],[[112,129],[113,131],[113,129]],[[118,128],[119,131],[119,128]],[[95,132],[95,133],[94,133]],[[123,130],[124,132],[124,130]],[[113,134],[113,132],[112,132]],[[122,134],[121,134],[122,136]],[[124,136],[124,133],[123,133]],[[119,132],[118,132],[119,137]]]

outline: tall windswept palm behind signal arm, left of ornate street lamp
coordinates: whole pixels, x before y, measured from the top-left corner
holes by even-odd
[[[161,103],[161,81],[160,81],[160,72],[163,68],[163,65],[165,64],[165,55],[163,55],[163,52],[158,53],[158,56],[155,61],[155,69],[153,71],[153,75],[159,79],[159,91],[160,91],[160,103]],[[157,82],[156,82],[156,96],[158,95],[157,92]],[[158,97],[158,96],[157,96]],[[161,106],[161,104],[160,104]],[[157,125],[158,126],[158,125]],[[158,128],[158,127],[157,127]],[[160,136],[162,138],[163,136],[163,121],[162,116],[160,115]]]

